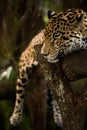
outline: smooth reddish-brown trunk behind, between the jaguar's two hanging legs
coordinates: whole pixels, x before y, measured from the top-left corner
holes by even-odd
[[[38,77],[38,75],[36,74]],[[33,91],[27,92],[27,106],[32,130],[46,130],[47,91],[43,78],[36,77]]]

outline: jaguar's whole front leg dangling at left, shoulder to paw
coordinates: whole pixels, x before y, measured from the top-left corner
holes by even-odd
[[[16,102],[13,114],[10,118],[10,123],[14,126],[18,125],[22,121],[25,87],[28,83],[30,75],[33,73],[32,71],[35,70],[33,68],[38,66],[38,60],[34,46],[42,44],[43,41],[44,33],[42,30],[31,40],[29,46],[21,54],[19,62],[19,78],[17,79],[16,86]]]

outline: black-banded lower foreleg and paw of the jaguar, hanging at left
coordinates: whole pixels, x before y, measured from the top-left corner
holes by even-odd
[[[10,123],[13,126],[18,125],[22,121],[25,87],[28,83],[28,76],[31,70],[32,68],[28,68],[28,67],[20,70],[19,78],[17,79],[16,102],[15,102],[13,114],[10,118]]]

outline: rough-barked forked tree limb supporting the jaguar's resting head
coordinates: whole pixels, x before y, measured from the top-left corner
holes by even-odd
[[[84,86],[75,93],[70,82],[87,77],[87,50],[73,52],[59,63],[51,64],[40,55],[40,46],[35,49],[47,85],[53,91],[60,107],[63,130],[84,130],[87,87]]]

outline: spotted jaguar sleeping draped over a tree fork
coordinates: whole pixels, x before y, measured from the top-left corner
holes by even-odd
[[[19,61],[19,77],[16,85],[16,102],[10,118],[12,125],[22,121],[25,86],[34,67],[40,62],[35,51],[36,45],[41,45],[40,54],[47,62],[57,63],[64,55],[80,49],[87,49],[87,13],[82,9],[67,9],[59,13],[48,12],[49,22],[29,43],[21,54]],[[55,109],[59,109],[54,100]],[[55,110],[54,113],[55,113]],[[59,113],[59,110],[58,112]],[[54,114],[55,116],[55,114]],[[59,115],[60,119],[60,115]],[[56,121],[57,122],[57,121]],[[61,122],[61,119],[60,119]]]

